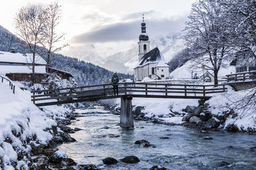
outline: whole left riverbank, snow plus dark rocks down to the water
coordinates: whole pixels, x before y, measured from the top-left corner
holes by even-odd
[[[74,108],[67,105],[38,108],[31,102],[31,92],[21,90],[19,82],[14,84],[15,94],[8,84],[0,83],[0,169],[47,169],[54,159],[63,157],[52,146],[74,141],[60,129],[61,124],[70,124],[67,117]],[[62,160],[74,164],[67,157]]]

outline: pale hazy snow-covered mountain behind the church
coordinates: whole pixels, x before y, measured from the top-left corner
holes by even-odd
[[[150,49],[157,46],[167,62],[177,52],[185,48],[185,41],[181,33],[150,39],[150,41]],[[108,53],[111,53],[111,48],[106,53],[100,53],[101,49],[95,45],[70,46],[68,50],[65,50],[65,55],[76,57],[77,59],[84,60],[84,62],[92,62],[110,71],[131,74],[134,67],[138,64],[139,48],[137,43],[137,41],[134,41],[132,45],[127,45],[125,50],[120,50],[120,52],[110,55]]]

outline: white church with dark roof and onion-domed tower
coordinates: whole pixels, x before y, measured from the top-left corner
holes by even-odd
[[[156,47],[150,50],[150,41],[146,33],[146,23],[141,22],[141,34],[139,37],[139,62],[134,68],[134,81],[141,81],[148,77],[151,80],[161,80],[169,78],[168,62],[164,59],[163,54]]]

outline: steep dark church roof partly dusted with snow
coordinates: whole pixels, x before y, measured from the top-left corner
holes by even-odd
[[[145,55],[143,55],[143,57],[139,62],[138,67],[144,66],[145,64],[156,63],[156,62],[158,62],[157,67],[168,67],[163,54],[160,52],[160,50],[157,47],[154,48],[153,50],[150,50],[148,53],[145,53]]]

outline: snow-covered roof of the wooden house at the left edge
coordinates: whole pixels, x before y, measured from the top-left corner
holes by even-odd
[[[32,73],[32,66],[0,66],[0,74]],[[45,66],[35,66],[35,73],[45,74]]]

